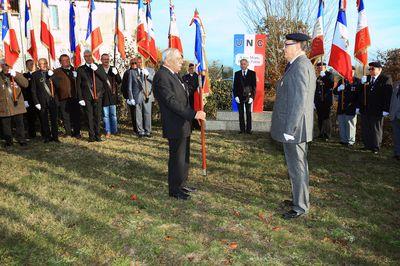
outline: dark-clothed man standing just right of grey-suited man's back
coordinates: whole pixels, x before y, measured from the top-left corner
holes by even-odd
[[[317,87],[315,91],[314,104],[317,110],[319,138],[328,140],[331,137],[332,123],[330,119],[333,104],[332,90],[334,87],[333,75],[326,70],[326,64],[317,64]]]

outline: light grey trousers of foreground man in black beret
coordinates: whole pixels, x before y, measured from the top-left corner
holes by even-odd
[[[306,213],[310,208],[308,145],[306,142],[283,143],[283,150],[292,184],[293,210],[298,213]]]

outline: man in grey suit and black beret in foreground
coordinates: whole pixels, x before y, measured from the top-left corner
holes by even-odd
[[[297,218],[310,208],[307,142],[313,139],[316,77],[304,52],[308,40],[309,37],[301,33],[286,35],[288,66],[278,81],[272,114],[271,136],[283,143],[292,184],[292,201],[285,201],[291,210],[283,214],[284,219]]]

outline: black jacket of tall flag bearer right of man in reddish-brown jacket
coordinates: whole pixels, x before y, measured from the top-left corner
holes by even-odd
[[[78,78],[76,79],[76,89],[78,91],[78,99],[85,101],[92,101],[92,89],[93,89],[93,70],[86,64],[80,66],[77,70]],[[106,90],[107,84],[107,74],[104,68],[98,66],[95,73],[96,82],[96,93],[97,98],[101,99],[103,97],[104,91]]]

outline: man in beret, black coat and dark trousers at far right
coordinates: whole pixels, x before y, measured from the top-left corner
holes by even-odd
[[[361,114],[363,150],[378,154],[383,136],[383,118],[389,115],[392,83],[382,74],[380,62],[369,63],[370,75],[364,76],[357,113]]]

